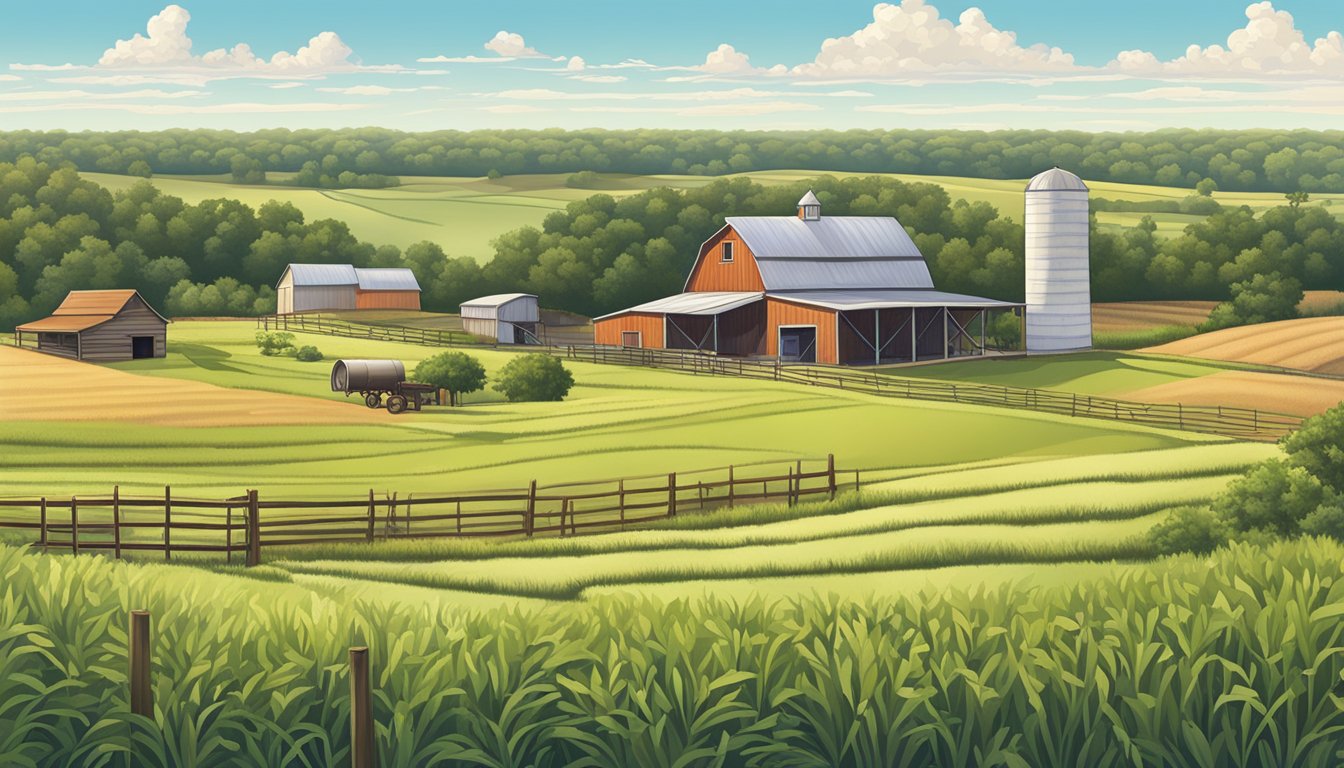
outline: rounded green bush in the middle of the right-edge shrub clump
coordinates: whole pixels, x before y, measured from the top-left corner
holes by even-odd
[[[1282,460],[1265,461],[1234,480],[1214,511],[1236,531],[1262,530],[1292,537],[1302,521],[1335,496],[1314,475]]]

